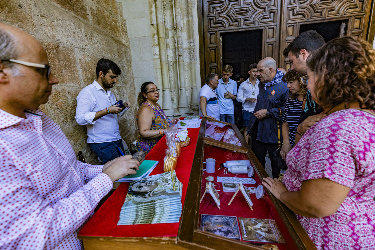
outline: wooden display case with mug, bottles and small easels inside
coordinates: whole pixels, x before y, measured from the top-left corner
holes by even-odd
[[[208,170],[203,163],[210,158],[215,160],[213,173],[202,171]],[[239,160],[235,164],[242,167],[231,168],[232,162],[228,161],[234,160]],[[177,244],[193,249],[199,248],[197,246],[209,249],[316,249],[294,213],[263,189],[263,177],[268,177],[266,171],[236,126],[203,118]],[[239,185],[230,183],[233,180],[243,183],[242,191],[237,191]]]

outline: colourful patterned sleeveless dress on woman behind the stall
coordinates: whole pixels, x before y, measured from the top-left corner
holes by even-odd
[[[164,111],[160,108],[160,111],[156,108],[154,108],[152,105],[150,105],[147,102],[142,103],[142,105],[147,105],[150,108],[154,110],[155,118],[152,120],[151,130],[159,130],[159,129],[166,129],[169,127],[169,123],[171,123],[171,120],[164,114]],[[136,116],[136,120],[138,122],[138,116]],[[143,151],[144,153],[150,152],[151,148],[155,146],[155,144],[160,140],[160,137],[152,138],[152,139],[144,139],[141,135],[138,133],[137,137],[137,150]]]

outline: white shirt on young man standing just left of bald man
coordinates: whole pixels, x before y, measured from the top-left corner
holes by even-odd
[[[253,95],[254,93],[254,95]],[[242,110],[253,112],[256,102],[245,102],[246,98],[257,98],[259,94],[259,80],[255,82],[255,86],[249,81],[249,78],[244,81],[238,88],[237,102],[242,102]]]

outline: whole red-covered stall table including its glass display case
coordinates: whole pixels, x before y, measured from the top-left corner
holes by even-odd
[[[189,129],[189,137],[175,170],[183,183],[180,222],[117,225],[129,187],[122,183],[78,232],[86,250],[316,249],[294,213],[267,190],[259,199],[253,193],[268,175],[236,126],[202,118],[199,128]],[[146,156],[159,161],[151,175],[163,172],[165,142],[163,137]],[[214,171],[209,158],[215,161]],[[242,167],[231,168],[228,160],[240,160],[236,166]],[[230,178],[246,178],[239,179],[243,190],[236,194],[238,186]]]

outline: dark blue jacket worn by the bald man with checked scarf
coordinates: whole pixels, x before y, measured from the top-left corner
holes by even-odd
[[[274,92],[272,92],[274,91]],[[272,94],[274,93],[274,94]],[[263,82],[259,82],[259,94],[257,96],[257,105],[248,125],[248,133],[252,132],[255,122],[259,121],[257,140],[266,143],[278,143],[278,121],[280,122],[280,137],[282,142],[282,113],[284,104],[289,98],[289,90],[285,82],[268,86],[264,90]],[[254,113],[261,109],[270,111],[270,117],[258,120]]]

